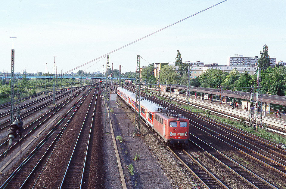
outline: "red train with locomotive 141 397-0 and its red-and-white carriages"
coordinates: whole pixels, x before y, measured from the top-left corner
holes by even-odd
[[[124,88],[117,88],[117,94],[135,110],[135,94]],[[189,121],[181,113],[162,109],[147,99],[140,101],[141,118],[157,133],[166,145],[185,145],[189,143]],[[137,110],[138,111],[138,110]]]

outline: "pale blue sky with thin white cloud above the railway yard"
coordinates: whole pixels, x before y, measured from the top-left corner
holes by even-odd
[[[204,10],[222,0],[1,1],[0,72],[11,72],[14,39],[15,72],[58,73],[72,70],[121,46]],[[150,63],[183,61],[226,65],[227,57],[269,56],[286,61],[286,1],[228,0],[163,31],[110,53],[110,68],[121,72]],[[73,70],[102,71],[106,57]]]

